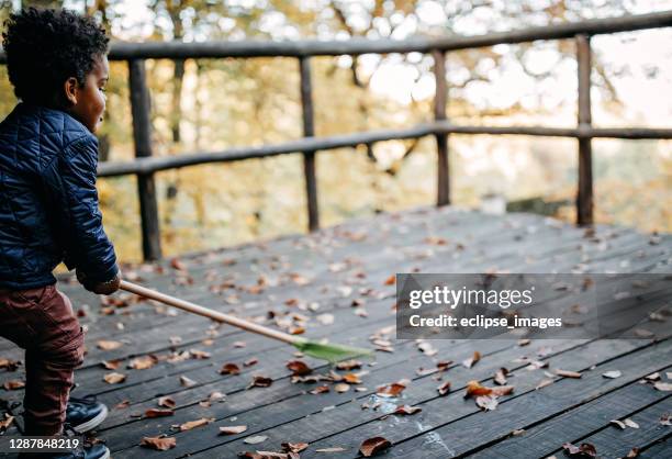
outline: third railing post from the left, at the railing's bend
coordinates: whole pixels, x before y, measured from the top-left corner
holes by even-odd
[[[434,79],[436,93],[434,97],[434,119],[446,120],[446,102],[448,88],[446,86],[446,52],[434,49]],[[436,205],[450,204],[450,167],[448,164],[448,135],[436,134],[436,153],[438,164]]]

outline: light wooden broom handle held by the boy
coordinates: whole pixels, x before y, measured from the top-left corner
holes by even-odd
[[[279,339],[284,343],[295,344],[300,340],[296,336],[292,336],[288,333],[279,332],[273,328],[265,327],[264,325],[255,324],[243,318],[235,317],[233,315],[224,314],[219,311],[211,310],[209,307],[201,306],[190,301],[180,300],[179,298],[170,296],[165,293],[157,292],[155,290],[147,289],[126,280],[122,280],[120,288],[136,295],[156,300],[164,304],[180,309],[182,311],[190,312],[192,314],[202,315],[203,317],[212,318],[213,321],[222,322],[234,327],[243,328],[251,333],[268,336],[272,339]]]

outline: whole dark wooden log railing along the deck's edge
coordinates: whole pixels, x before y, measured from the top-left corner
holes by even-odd
[[[672,11],[641,15],[553,24],[519,31],[478,36],[444,38],[295,41],[295,42],[208,42],[208,43],[115,43],[110,59],[126,60],[130,69],[131,105],[136,159],[130,163],[103,163],[100,177],[137,176],[143,235],[143,255],[147,260],[161,257],[159,220],[154,173],[208,163],[225,163],[262,158],[289,153],[302,153],[304,158],[305,190],[307,195],[309,228],[320,227],[315,153],[340,147],[372,145],[376,142],[419,138],[433,135],[438,155],[437,205],[450,203],[449,134],[508,134],[553,137],[573,137],[578,141],[579,180],[576,193],[576,223],[593,223],[593,173],[591,139],[611,138],[672,138],[672,128],[595,128],[591,125],[591,46],[592,35],[672,26]],[[457,49],[514,44],[536,40],[573,38],[576,44],[579,69],[578,124],[573,128],[544,126],[464,126],[451,124],[446,117],[448,88],[446,85],[446,53]],[[337,56],[387,53],[429,53],[434,57],[436,93],[434,121],[403,130],[380,130],[357,134],[314,137],[314,111],[311,82],[312,56]],[[149,119],[149,90],[145,76],[145,59],[166,58],[223,58],[223,57],[295,57],[301,75],[301,104],[303,110],[302,139],[259,147],[231,148],[224,152],[183,154],[171,157],[153,156],[152,123]],[[4,55],[0,55],[0,63]]]

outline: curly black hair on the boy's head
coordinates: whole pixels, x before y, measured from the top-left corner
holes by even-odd
[[[68,10],[30,8],[4,22],[9,79],[24,102],[52,104],[71,77],[83,86],[110,38],[93,18]]]

